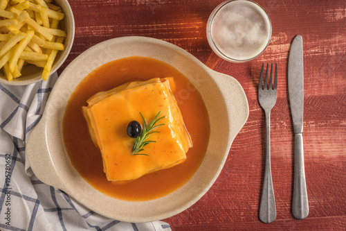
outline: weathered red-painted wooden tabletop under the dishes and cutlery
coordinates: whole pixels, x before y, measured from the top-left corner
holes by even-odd
[[[258,0],[273,35],[259,58],[221,60],[208,45],[206,22],[221,0],[73,0],[75,42],[61,71],[90,46],[127,35],[155,37],[192,53],[244,87],[250,115],[215,185],[181,214],[172,230],[346,230],[346,3],[344,0]],[[310,213],[291,214],[293,128],[287,91],[291,41],[304,47],[304,156]],[[264,112],[257,101],[262,62],[277,62],[278,95],[271,117],[271,155],[277,218],[258,219],[264,176]]]

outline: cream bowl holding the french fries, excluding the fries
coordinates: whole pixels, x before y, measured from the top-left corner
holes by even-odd
[[[60,6],[65,14],[64,19],[60,22],[60,26],[62,30],[66,31],[67,36],[64,40],[65,49],[57,53],[57,57],[52,65],[51,74],[57,71],[65,62],[67,56],[69,56],[75,37],[75,20],[69,1],[55,0],[55,4]],[[0,83],[7,85],[28,85],[36,83],[42,80],[42,71],[43,68],[36,67],[35,65],[24,66],[21,70],[21,76],[19,78],[14,78],[12,81],[8,81],[6,76],[3,75],[3,71],[0,71]]]

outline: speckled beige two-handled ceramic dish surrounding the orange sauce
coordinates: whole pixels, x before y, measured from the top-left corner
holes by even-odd
[[[71,165],[62,137],[66,103],[82,78],[104,63],[132,55],[156,58],[181,71],[201,93],[210,117],[208,151],[194,176],[172,194],[144,202],[118,200],[91,187]],[[120,37],[91,47],[66,67],[53,87],[41,121],[29,137],[27,155],[37,178],[62,189],[94,212],[119,221],[156,221],[182,212],[206,194],[247,119],[248,102],[235,78],[212,71],[168,42]]]

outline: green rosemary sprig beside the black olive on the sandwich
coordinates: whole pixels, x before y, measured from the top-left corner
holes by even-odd
[[[156,117],[152,120],[151,123],[149,123],[149,126],[148,126],[147,121],[143,117],[143,114],[140,112],[139,114],[142,117],[144,124],[143,124],[143,129],[140,132],[140,135],[136,138],[134,142],[134,146],[132,147],[132,155],[148,155],[148,154],[139,153],[139,152],[144,150],[143,147],[145,145],[156,142],[152,140],[147,140],[147,138],[149,137],[150,134],[158,132],[158,131],[153,131],[155,128],[165,125],[165,123],[161,123],[155,126],[155,123],[157,123],[157,121],[165,117],[158,118],[158,115],[160,114],[160,112],[158,112],[158,114],[156,114]]]

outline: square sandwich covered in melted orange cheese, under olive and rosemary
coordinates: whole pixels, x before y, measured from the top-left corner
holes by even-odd
[[[192,141],[170,83],[174,87],[172,78],[126,83],[95,94],[83,107],[93,142],[102,153],[107,180],[134,180],[186,159]],[[164,126],[156,128],[158,132],[147,139],[156,142],[147,144],[140,152],[147,155],[132,155],[135,139],[127,135],[127,124],[135,120],[143,125],[140,113],[149,124],[158,112],[165,117],[158,124]]]

